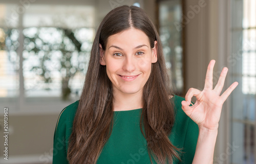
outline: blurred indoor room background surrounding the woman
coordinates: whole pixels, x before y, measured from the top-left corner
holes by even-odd
[[[154,21],[176,95],[203,89],[211,59],[215,84],[229,68],[225,89],[239,86],[223,107],[214,163],[256,163],[255,0],[1,0],[0,163],[52,163],[58,115],[79,100],[96,30],[121,5]]]

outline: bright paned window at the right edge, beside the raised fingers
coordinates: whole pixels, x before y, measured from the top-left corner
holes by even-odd
[[[239,149],[232,163],[255,163],[256,101],[256,2],[233,0],[232,43],[229,62],[232,81],[240,85],[232,93],[232,142]]]

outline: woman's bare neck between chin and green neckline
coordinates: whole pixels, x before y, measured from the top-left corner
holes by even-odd
[[[125,94],[120,91],[113,90],[113,110],[122,111],[142,108],[142,91],[143,90],[133,94]]]

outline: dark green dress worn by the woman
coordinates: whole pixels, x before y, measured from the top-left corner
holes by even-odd
[[[182,148],[181,159],[174,163],[192,163],[198,138],[198,125],[181,109],[184,98],[174,96],[175,124],[169,135],[170,142],[177,148]],[[59,114],[54,133],[53,164],[66,164],[68,140],[78,101],[64,108]],[[114,111],[114,125],[108,142],[102,149],[97,164],[131,164],[150,162],[146,148],[146,140],[140,131],[140,115],[142,109]],[[153,162],[154,159],[152,158]]]

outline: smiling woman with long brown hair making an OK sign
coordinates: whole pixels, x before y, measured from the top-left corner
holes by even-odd
[[[135,6],[110,11],[91,51],[79,101],[59,115],[53,163],[212,163],[227,68],[212,89],[172,94],[159,35]],[[195,96],[195,105],[190,105]],[[183,110],[182,110],[182,109]]]

